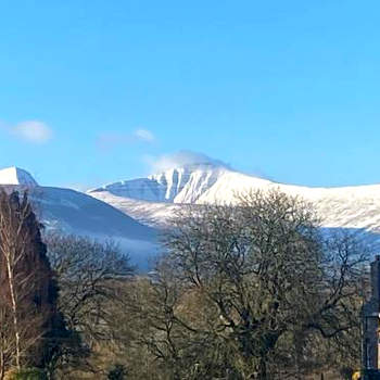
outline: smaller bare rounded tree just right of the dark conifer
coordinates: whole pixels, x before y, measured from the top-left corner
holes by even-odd
[[[45,237],[48,255],[60,288],[59,309],[71,331],[54,358],[54,367],[93,371],[88,362],[99,345],[110,342],[113,313],[122,313],[119,283],[134,274],[128,255],[112,241],[50,233]]]

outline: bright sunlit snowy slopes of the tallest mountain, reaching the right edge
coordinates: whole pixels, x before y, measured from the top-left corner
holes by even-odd
[[[174,173],[186,173],[181,180],[169,181]],[[223,166],[194,165],[178,167],[149,178],[165,178],[163,193],[175,197],[156,198],[147,202],[144,193],[116,192],[113,186],[91,190],[88,193],[141,223],[154,227],[166,226],[168,219],[182,203],[235,203],[236,195],[251,190],[279,189],[291,195],[299,195],[312,202],[328,228],[364,229],[380,233],[380,185],[344,188],[308,188],[276,183],[266,179],[238,173]],[[179,177],[178,177],[179,178]],[[118,182],[122,187],[129,181]],[[180,183],[180,186],[178,186]],[[127,195],[127,197],[126,197]],[[148,199],[150,201],[150,199]]]

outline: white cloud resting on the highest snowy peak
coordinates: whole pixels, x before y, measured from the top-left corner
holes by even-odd
[[[208,157],[206,154],[191,151],[179,151],[174,154],[164,154],[161,156],[144,155],[142,160],[150,166],[151,173],[161,173],[174,167],[188,165],[230,167],[230,165],[220,160],[215,160]]]

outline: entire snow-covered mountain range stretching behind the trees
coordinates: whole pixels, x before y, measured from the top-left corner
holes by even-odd
[[[367,232],[380,249],[380,185],[342,188],[283,185],[203,160],[166,167],[147,178],[106,185],[87,194],[41,187],[27,172],[16,167],[0,170],[0,186],[28,189],[47,229],[112,238],[139,264],[145,264],[145,258],[157,252],[159,230],[169,226],[170,217],[183,204],[233,204],[239,193],[257,189],[279,189],[300,195],[315,205],[322,227]]]

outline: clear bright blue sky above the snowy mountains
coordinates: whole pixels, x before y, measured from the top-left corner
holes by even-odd
[[[0,167],[143,176],[179,150],[281,182],[380,182],[379,1],[1,1]]]

